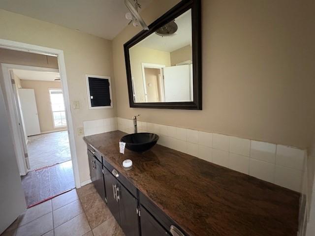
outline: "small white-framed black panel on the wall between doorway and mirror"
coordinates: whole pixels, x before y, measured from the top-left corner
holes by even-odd
[[[89,109],[112,108],[109,76],[86,75]]]

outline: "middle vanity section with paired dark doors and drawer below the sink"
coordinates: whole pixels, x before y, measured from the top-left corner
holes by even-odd
[[[126,236],[139,236],[138,200],[104,167],[107,207]]]

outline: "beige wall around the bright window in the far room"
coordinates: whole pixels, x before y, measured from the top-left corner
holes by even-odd
[[[61,82],[21,80],[21,86],[23,89],[34,89],[39,126],[42,133],[66,129],[66,127],[54,127],[50,105],[49,89],[61,89]]]

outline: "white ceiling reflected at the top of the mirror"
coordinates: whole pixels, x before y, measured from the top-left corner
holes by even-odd
[[[152,48],[164,52],[173,52],[187,45],[191,45],[191,10],[177,17],[175,23],[178,26],[175,34],[162,37],[156,33],[152,33],[150,36],[137,43],[136,46]]]

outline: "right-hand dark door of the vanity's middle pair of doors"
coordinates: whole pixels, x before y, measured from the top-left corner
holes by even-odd
[[[138,201],[119,184],[120,226],[126,236],[139,236]]]

